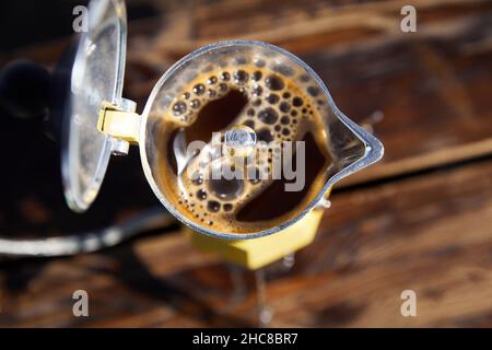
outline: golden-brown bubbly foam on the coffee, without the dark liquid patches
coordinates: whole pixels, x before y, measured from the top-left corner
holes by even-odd
[[[306,133],[312,133],[321,150],[326,166],[329,165],[330,155],[327,151],[325,126],[320,119],[327,113],[327,103],[311,77],[297,67],[269,61],[268,57],[243,60],[239,58],[233,57],[229,62],[211,63],[204,72],[196,72],[194,79],[183,86],[162,112],[160,149],[163,156],[160,158],[160,168],[164,195],[188,219],[222,232],[250,233],[278,225],[302,211],[317,195],[326,178],[320,175],[313,183],[306,184],[309,188],[296,209],[271,220],[238,221],[237,214],[241,210],[261,196],[273,182],[271,176],[268,179],[258,179],[250,178],[249,175],[261,171],[271,175],[273,163],[281,156],[281,152],[267,151],[262,162],[258,159],[253,162],[253,172],[250,166],[241,165],[239,168],[234,168],[234,160],[220,153],[222,164],[232,165],[245,179],[210,179],[214,163],[210,162],[207,152],[200,152],[186,161],[179,156],[184,152],[183,148],[190,141],[187,140],[187,131],[202,116],[203,108],[216,101],[232,98],[230,96],[233,94],[241,94],[245,97],[245,106],[229,127],[245,125],[256,132],[258,141],[269,144],[300,141]],[[213,131],[224,135],[226,130],[227,127]],[[210,145],[211,137],[208,135],[202,139]],[[260,149],[255,151],[258,154]],[[173,166],[174,162],[176,165]],[[279,198],[279,201],[281,200],[282,198]]]

